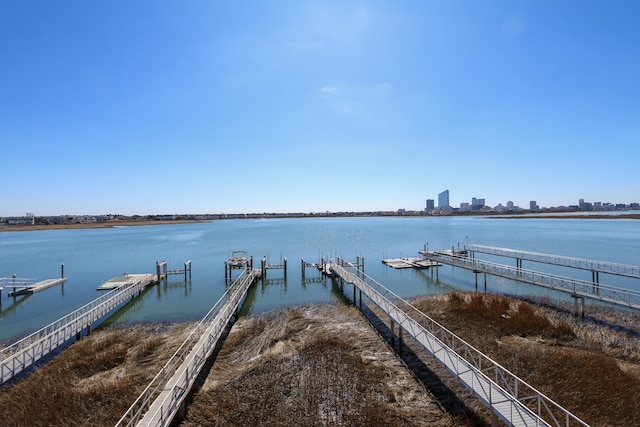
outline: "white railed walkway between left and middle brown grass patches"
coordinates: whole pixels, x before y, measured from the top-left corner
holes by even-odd
[[[248,265],[227,288],[116,426],[168,426],[185,411],[185,399],[260,270]]]

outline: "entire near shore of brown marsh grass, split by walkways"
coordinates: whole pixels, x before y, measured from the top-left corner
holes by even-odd
[[[479,293],[412,304],[586,422],[640,425],[638,313],[593,308],[581,319],[547,301]],[[192,327],[99,328],[1,389],[0,413],[15,426],[113,425]],[[315,426],[338,416],[335,425],[491,425],[486,408],[423,349],[405,339],[400,359],[388,341],[353,306],[241,318],[182,425]]]

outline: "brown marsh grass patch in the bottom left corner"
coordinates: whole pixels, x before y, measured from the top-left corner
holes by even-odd
[[[189,325],[99,330],[0,392],[2,426],[112,426]],[[155,354],[155,359],[149,356]]]

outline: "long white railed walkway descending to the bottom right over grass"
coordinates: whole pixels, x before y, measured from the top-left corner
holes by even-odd
[[[333,273],[358,288],[393,322],[509,426],[588,426],[513,373],[466,343],[352,264],[338,258]],[[355,302],[355,301],[354,301]]]

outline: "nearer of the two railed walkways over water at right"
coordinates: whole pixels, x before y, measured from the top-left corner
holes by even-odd
[[[640,291],[541,273],[539,271],[525,270],[523,268],[496,264],[476,258],[456,257],[438,252],[429,252],[423,256],[426,259],[442,264],[449,264],[466,268],[467,270],[473,270],[474,272],[489,273],[494,276],[542,286],[568,293],[574,297],[588,298],[626,308],[640,309]]]

